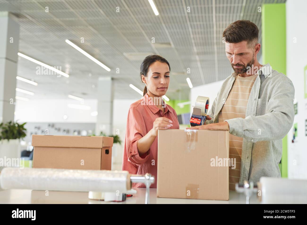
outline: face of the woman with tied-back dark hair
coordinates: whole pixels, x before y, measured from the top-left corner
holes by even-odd
[[[142,81],[147,86],[147,92],[163,96],[169,88],[169,66],[165,62],[154,62],[150,65],[147,77],[142,75]]]

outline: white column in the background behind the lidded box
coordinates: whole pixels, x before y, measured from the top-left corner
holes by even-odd
[[[106,135],[113,134],[113,84],[111,77],[99,77],[97,85],[97,123],[96,135],[102,131]]]

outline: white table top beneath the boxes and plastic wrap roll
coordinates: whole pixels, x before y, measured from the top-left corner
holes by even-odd
[[[88,192],[70,191],[49,191],[49,196],[45,196],[45,191],[25,190],[25,189],[0,189],[0,204],[144,204],[145,188],[134,188],[137,194],[127,197],[123,202],[105,202],[91,200]],[[245,204],[244,194],[229,191],[229,200],[196,200],[180,198],[158,198],[157,189],[150,188],[150,204]],[[251,204],[259,204],[256,193],[251,197]]]

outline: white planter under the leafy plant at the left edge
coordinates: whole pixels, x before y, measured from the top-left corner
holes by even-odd
[[[0,141],[0,158],[17,159],[21,157],[21,145],[18,139],[1,140]],[[0,165],[0,170],[2,169]]]

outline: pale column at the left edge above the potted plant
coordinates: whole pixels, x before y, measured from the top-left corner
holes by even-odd
[[[9,12],[0,12],[0,122],[14,120],[19,24]]]

